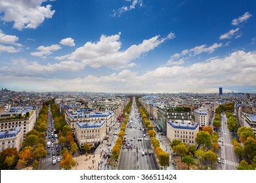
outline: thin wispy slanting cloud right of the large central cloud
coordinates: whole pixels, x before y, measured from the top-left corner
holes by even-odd
[[[184,59],[179,59],[181,58],[181,56],[186,56],[189,55],[189,57],[192,56],[196,56],[198,54],[202,54],[202,53],[209,53],[211,54],[212,52],[214,52],[217,48],[220,48],[221,46],[223,46],[222,43],[214,43],[213,45],[207,47],[206,44],[200,45],[200,46],[196,46],[194,48],[191,49],[186,49],[186,50],[182,50],[181,53],[176,53],[173,54],[171,56],[171,58],[167,61],[166,65],[181,65],[182,63],[184,63]],[[176,59],[179,59],[178,61]]]

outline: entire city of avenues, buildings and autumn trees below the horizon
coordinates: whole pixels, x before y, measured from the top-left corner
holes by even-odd
[[[256,94],[0,90],[1,169],[255,169]]]

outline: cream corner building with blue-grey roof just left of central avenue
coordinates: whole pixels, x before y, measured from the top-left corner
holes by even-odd
[[[77,122],[75,123],[75,138],[77,145],[83,146],[89,143],[94,146],[95,143],[102,142],[106,137],[106,121],[98,122]]]

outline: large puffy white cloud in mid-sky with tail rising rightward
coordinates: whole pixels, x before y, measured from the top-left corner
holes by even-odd
[[[121,33],[118,35],[102,35],[98,42],[87,42],[85,45],[77,48],[70,54],[68,59],[81,61],[84,65],[91,67],[111,67],[120,69],[124,67],[134,67],[131,63],[133,59],[139,58],[150,50],[154,50],[159,44],[175,37],[174,33],[169,33],[165,38],[157,35],[142,43],[132,45],[127,50],[120,51],[121,42],[119,41]]]

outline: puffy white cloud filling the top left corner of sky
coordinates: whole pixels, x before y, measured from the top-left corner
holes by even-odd
[[[54,10],[51,5],[41,6],[47,0],[1,0],[0,13],[3,13],[1,20],[14,22],[15,29],[37,28],[45,18],[52,18]]]

